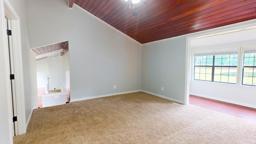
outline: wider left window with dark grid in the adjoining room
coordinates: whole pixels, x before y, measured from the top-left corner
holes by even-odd
[[[195,54],[194,80],[236,84],[237,62],[238,51]]]

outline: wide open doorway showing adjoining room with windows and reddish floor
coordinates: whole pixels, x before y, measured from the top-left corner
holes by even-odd
[[[236,25],[187,37],[185,99],[255,122],[255,20]]]

